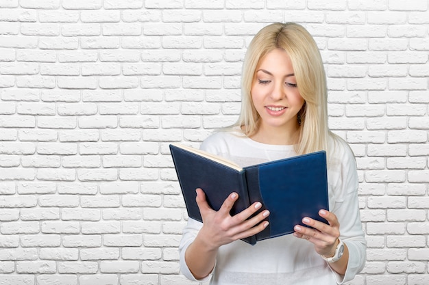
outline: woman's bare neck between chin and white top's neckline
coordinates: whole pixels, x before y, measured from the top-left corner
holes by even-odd
[[[261,125],[258,131],[250,138],[262,144],[289,146],[298,143],[299,131],[298,124],[291,128],[275,128]]]

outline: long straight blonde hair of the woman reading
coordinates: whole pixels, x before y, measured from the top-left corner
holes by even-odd
[[[273,49],[286,51],[291,59],[299,94],[305,103],[298,115],[299,141],[297,154],[328,150],[328,140],[334,135],[328,129],[326,74],[321,55],[310,33],[296,23],[273,23],[262,28],[249,44],[241,79],[241,114],[233,127],[252,136],[258,131],[259,115],[250,94],[260,59]]]

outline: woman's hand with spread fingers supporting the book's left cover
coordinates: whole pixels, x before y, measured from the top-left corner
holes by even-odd
[[[263,221],[269,215],[268,210],[251,217],[262,206],[260,202],[255,202],[249,208],[241,211],[241,213],[231,216],[231,208],[238,199],[237,193],[231,193],[223,202],[219,211],[215,211],[208,205],[204,191],[202,189],[197,189],[196,191],[196,200],[203,219],[203,226],[199,230],[197,238],[202,239],[212,250],[216,250],[221,245],[226,245],[232,241],[257,234],[269,224],[268,221]],[[261,221],[263,222],[261,223]]]

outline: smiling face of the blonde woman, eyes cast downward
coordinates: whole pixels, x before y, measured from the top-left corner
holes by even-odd
[[[266,131],[297,129],[297,113],[304,105],[304,98],[299,94],[292,62],[286,51],[274,49],[262,57],[256,68],[251,94],[261,119],[260,128]]]

